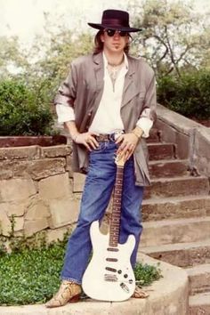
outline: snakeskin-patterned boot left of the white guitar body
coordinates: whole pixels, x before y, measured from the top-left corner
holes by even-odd
[[[59,291],[49,302],[45,303],[45,306],[52,308],[65,305],[66,303],[76,303],[79,300],[81,292],[81,286],[77,285],[77,283],[63,280]]]

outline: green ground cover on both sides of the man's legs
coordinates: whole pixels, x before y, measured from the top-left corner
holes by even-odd
[[[12,254],[0,255],[0,305],[45,303],[60,286],[60,272],[66,238],[40,248],[15,247]],[[135,277],[148,286],[161,277],[154,266],[138,263]]]

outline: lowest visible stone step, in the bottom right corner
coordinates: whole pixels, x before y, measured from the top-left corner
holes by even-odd
[[[189,315],[209,315],[210,314],[210,292],[190,296]]]

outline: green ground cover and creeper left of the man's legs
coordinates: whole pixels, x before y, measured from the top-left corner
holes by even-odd
[[[15,222],[12,220],[12,225]],[[44,232],[31,238],[15,237],[7,242],[11,254],[0,251],[0,305],[44,303],[60,286],[60,273],[69,231],[62,240],[47,244]]]

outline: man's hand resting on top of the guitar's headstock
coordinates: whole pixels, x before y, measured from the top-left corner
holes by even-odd
[[[117,149],[119,158],[124,156],[125,161],[131,158],[139,140],[140,138],[134,133],[125,133],[118,136],[116,143],[119,144]]]

